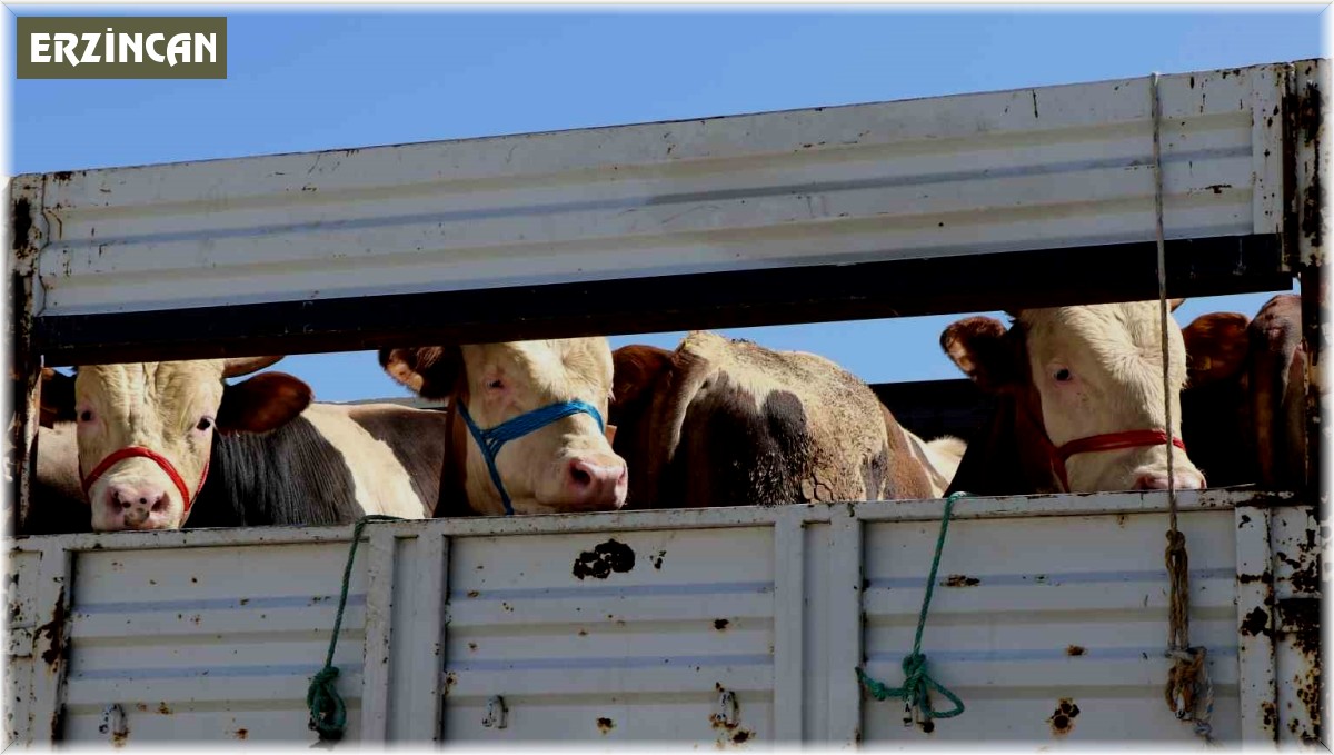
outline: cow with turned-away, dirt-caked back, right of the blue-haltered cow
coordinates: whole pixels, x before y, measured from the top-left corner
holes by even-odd
[[[824,357],[692,332],[614,359],[634,508],[931,496],[888,410]]]

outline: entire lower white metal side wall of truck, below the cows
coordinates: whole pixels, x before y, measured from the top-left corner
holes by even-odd
[[[903,728],[902,706],[863,694],[852,670],[900,680],[938,500],[372,524],[335,658],[348,736],[1190,743],[1162,695],[1166,502],[960,500],[923,651],[967,711],[930,735]],[[1191,638],[1209,648],[1222,740],[1299,740],[1319,724],[1310,626],[1275,634],[1251,616],[1319,596],[1303,576],[1314,562],[1289,547],[1314,558],[1317,522],[1293,503],[1179,496]],[[21,607],[15,626],[41,638],[11,640],[13,688],[33,684],[31,724],[11,719],[7,735],[313,740],[305,684],[324,659],[348,536],[293,527],[11,540],[23,575],[5,586],[11,611]],[[1286,559],[1298,563],[1285,571]],[[1269,583],[1251,571],[1261,562]],[[61,570],[72,602],[56,590]],[[1277,600],[1266,592],[1275,583]],[[48,634],[64,638],[55,650]],[[1078,714],[1059,720],[1062,702]],[[108,719],[111,704],[123,719]]]

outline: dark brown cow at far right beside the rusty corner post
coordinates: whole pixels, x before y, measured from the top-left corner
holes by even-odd
[[[1183,434],[1210,482],[1301,488],[1306,482],[1306,347],[1301,297],[1270,299],[1251,320],[1201,315],[1182,331]]]

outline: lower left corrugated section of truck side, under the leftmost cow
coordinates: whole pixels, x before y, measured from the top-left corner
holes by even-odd
[[[67,740],[119,704],[123,740],[313,739],[305,691],[328,648],[344,543],[87,551],[75,560]],[[364,571],[335,662],[359,731]]]

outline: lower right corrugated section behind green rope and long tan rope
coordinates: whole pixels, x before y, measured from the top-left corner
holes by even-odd
[[[951,526],[922,650],[967,710],[923,734],[903,727],[902,703],[868,700],[866,740],[1195,739],[1163,702],[1166,528],[1162,515]],[[936,530],[867,528],[867,671],[891,686],[912,648]],[[1214,735],[1235,740],[1235,523],[1230,512],[1197,512],[1181,518],[1181,530],[1191,556],[1190,636],[1209,648],[1217,695]],[[1063,700],[1078,714],[1058,719]],[[950,707],[939,696],[935,704]]]

